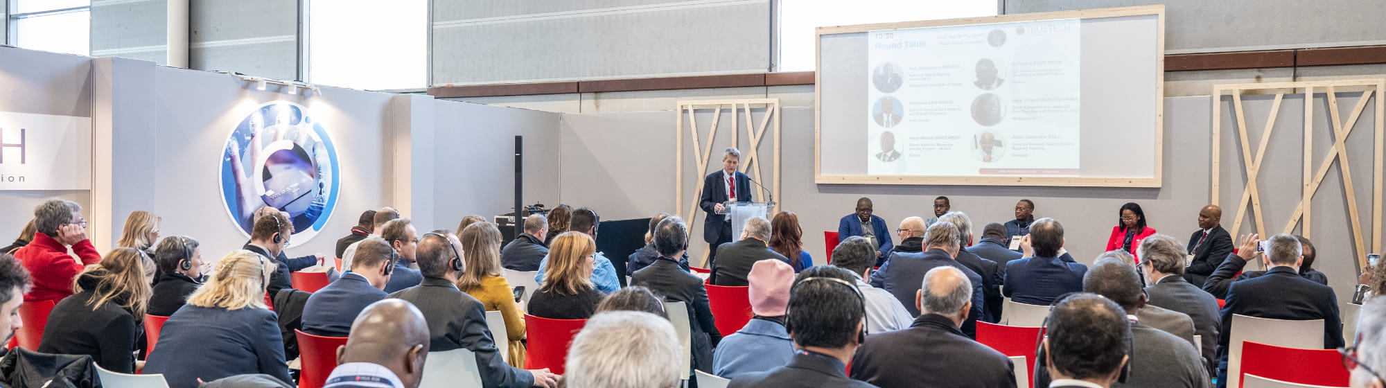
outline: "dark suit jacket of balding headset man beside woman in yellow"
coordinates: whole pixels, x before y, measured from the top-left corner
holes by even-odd
[[[426,277],[416,287],[389,294],[414,303],[428,321],[428,351],[442,352],[466,348],[477,353],[481,384],[488,388],[528,388],[534,374],[511,367],[496,351],[495,337],[486,327],[486,308],[481,301],[457,290],[452,281]]]

